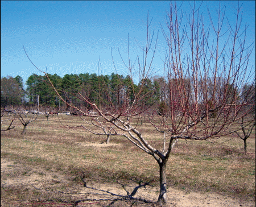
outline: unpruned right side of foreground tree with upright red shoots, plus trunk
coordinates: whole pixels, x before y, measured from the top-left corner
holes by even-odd
[[[156,115],[150,117],[156,129],[170,137],[168,148],[163,149],[158,161],[159,198],[166,194],[164,171],[177,139],[205,140],[224,136],[230,133],[231,125],[236,125],[253,110],[255,113],[255,101],[242,100],[239,96],[243,84],[247,81],[255,84],[254,70],[248,65],[252,48],[246,45],[247,25],[241,28],[241,6],[238,3],[235,25],[228,21],[228,28],[224,25],[225,7],[218,7],[218,19],[212,19],[208,10],[211,22],[208,28],[204,27],[199,8],[194,4],[190,9],[191,14],[186,16],[187,24],[184,24],[183,12],[176,3],[171,5],[166,21],[168,30],[163,29],[168,45],[166,68],[170,111],[168,117],[162,119],[156,119]],[[210,28],[213,36],[209,35]],[[249,91],[245,96],[247,94]],[[245,107],[247,110],[243,110]]]

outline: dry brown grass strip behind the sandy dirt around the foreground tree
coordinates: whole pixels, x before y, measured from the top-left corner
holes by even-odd
[[[61,125],[63,123],[63,125]],[[89,134],[78,126],[79,117],[63,118],[41,115],[20,135],[22,125],[15,121],[15,131],[1,133],[1,158],[45,169],[57,168],[65,173],[114,182],[115,179],[137,179],[158,185],[158,164],[142,150],[121,136],[112,136],[109,146],[101,144],[106,136]],[[5,125],[3,125],[4,127]],[[6,124],[7,126],[7,124]],[[138,125],[153,146],[161,146],[159,135],[148,123]],[[185,191],[217,191],[236,196],[255,196],[255,129],[247,140],[247,151],[239,138],[227,136],[209,141],[179,140],[167,164],[168,186]],[[227,150],[228,149],[228,150]],[[250,154],[251,153],[251,154]]]

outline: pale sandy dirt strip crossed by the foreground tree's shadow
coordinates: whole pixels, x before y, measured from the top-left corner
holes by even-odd
[[[156,201],[158,198],[158,187],[148,184],[138,184],[133,181],[124,183],[119,181],[115,184],[97,183],[97,181],[84,180],[84,186],[73,185],[72,177],[61,174],[59,171],[47,171],[42,168],[32,168],[31,166],[22,165],[1,159],[1,188],[30,188],[31,191],[38,191],[41,194],[51,192],[53,197],[60,199],[69,196],[70,201],[77,201],[77,206],[85,206],[85,203],[90,203],[86,206],[127,206],[126,202],[114,203],[114,200],[127,198],[141,198],[144,201]],[[5,198],[5,196],[3,196]],[[40,201],[40,196],[35,198]],[[28,201],[30,200],[27,198]],[[34,199],[34,198],[33,198]],[[240,207],[240,206],[255,206],[255,201],[238,200],[217,194],[213,192],[185,192],[175,188],[168,189],[168,199],[170,206],[188,207],[188,206],[207,206],[207,207]],[[16,201],[16,198],[15,200]],[[25,202],[23,200],[23,202]],[[81,201],[81,202],[80,202]],[[93,201],[93,202],[92,202]],[[98,201],[98,202],[97,202]],[[68,201],[67,201],[68,202]],[[1,206],[12,206],[11,200],[3,200],[1,196]],[[38,206],[38,205],[37,205]],[[130,205],[129,205],[130,206]],[[144,204],[143,206],[147,206]]]

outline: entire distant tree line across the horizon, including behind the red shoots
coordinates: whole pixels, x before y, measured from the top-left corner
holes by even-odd
[[[181,89],[175,89],[174,85],[176,80],[172,78],[166,81],[165,78],[155,76],[152,78],[142,79],[138,84],[134,84],[130,76],[122,76],[119,74],[112,73],[109,75],[100,75],[96,73],[80,73],[80,74],[65,74],[64,77],[60,77],[57,74],[48,74],[53,86],[57,89],[61,97],[68,103],[72,103],[78,107],[86,107],[90,109],[88,103],[81,101],[77,96],[77,92],[80,92],[82,96],[88,97],[89,100],[96,105],[102,105],[104,107],[108,105],[122,105],[126,103],[129,106],[133,103],[133,100],[137,94],[143,96],[143,102],[140,103],[142,106],[150,106],[155,102],[158,103],[158,110],[160,114],[166,114],[168,111],[168,105],[172,104],[179,105],[175,94],[170,97],[170,90],[176,93],[180,93]],[[186,96],[191,97],[190,100],[193,102],[192,94],[192,81],[183,79],[184,90]],[[219,93],[222,93],[224,85],[219,80]],[[11,76],[1,78],[1,107],[9,105],[25,105],[25,106],[46,106],[46,107],[60,107],[63,103],[57,94],[52,89],[47,77],[32,74],[26,81],[27,88],[24,90],[23,80],[20,76],[15,78]],[[213,83],[208,82],[207,87],[209,88],[209,94],[207,96],[212,97],[211,87]],[[228,85],[228,88],[232,93],[236,93],[237,101],[249,99],[245,97],[247,90],[250,90],[250,96],[255,97],[255,85],[245,84],[242,89],[236,89],[232,84]],[[200,92],[200,89],[199,89]],[[231,94],[232,94],[231,93]],[[203,96],[203,94],[201,94]],[[204,98],[211,105],[212,102],[207,97]],[[255,98],[254,98],[255,100]],[[232,100],[231,100],[232,101]]]

